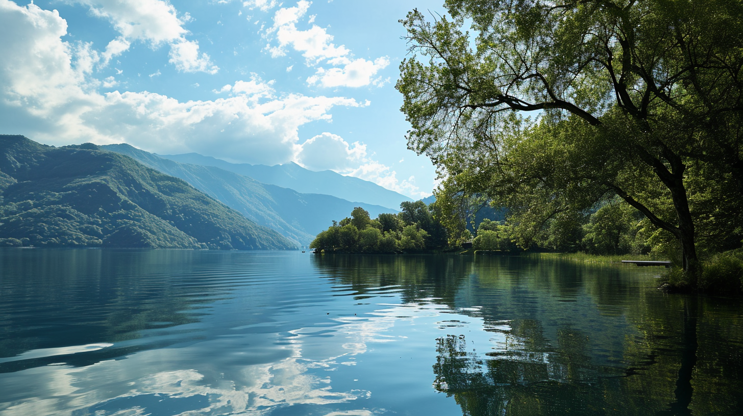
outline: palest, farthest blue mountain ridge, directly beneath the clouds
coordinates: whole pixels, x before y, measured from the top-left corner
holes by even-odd
[[[358,201],[392,209],[400,209],[400,202],[412,201],[411,198],[383,188],[376,183],[351,176],[343,176],[331,170],[314,172],[296,163],[275,166],[229,163],[224,160],[215,159],[214,157],[202,156],[198,153],[158,156],[181,163],[215,166],[253,178],[262,183],[282,186],[306,194],[333,195],[346,201]]]

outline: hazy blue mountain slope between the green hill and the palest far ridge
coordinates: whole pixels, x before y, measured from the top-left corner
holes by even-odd
[[[299,245],[309,245],[315,235],[328,228],[333,220],[350,215],[354,207],[366,209],[372,218],[381,212],[396,212],[395,209],[345,201],[331,195],[299,193],[215,166],[179,163],[128,144],[101,147],[132,157],[166,175],[181,178],[257,224],[270,227]]]

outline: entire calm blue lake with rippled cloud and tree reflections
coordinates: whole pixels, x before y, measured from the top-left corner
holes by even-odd
[[[0,415],[742,415],[743,302],[662,272],[0,249]]]

